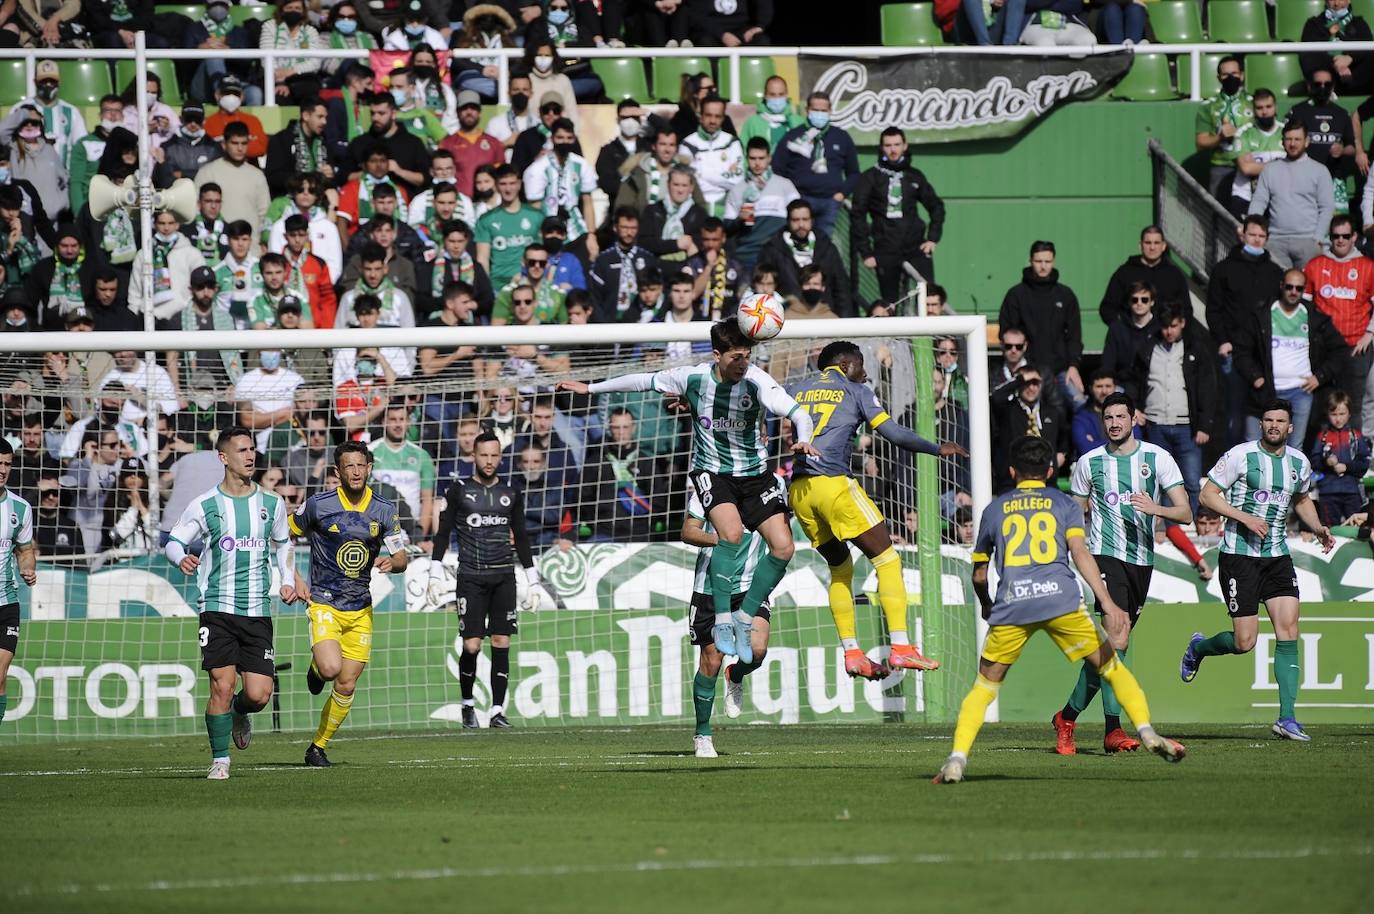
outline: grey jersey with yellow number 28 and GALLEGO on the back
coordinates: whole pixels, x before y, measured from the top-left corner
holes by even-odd
[[[973,561],[998,569],[989,625],[1029,625],[1083,603],[1069,540],[1083,536],[1083,509],[1044,482],[1021,482],[982,513]]]

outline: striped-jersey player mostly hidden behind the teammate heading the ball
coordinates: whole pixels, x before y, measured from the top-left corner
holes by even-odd
[[[687,635],[692,645],[701,649],[697,657],[697,675],[692,678],[692,705],[697,712],[697,733],[692,737],[692,748],[698,759],[714,759],[716,745],[710,735],[710,709],[716,702],[716,676],[720,675],[720,665],[724,654],[716,650],[710,629],[716,621],[716,608],[710,597],[710,555],[714,551],[719,537],[710,521],[706,520],[706,510],[697,498],[697,488],[687,482],[687,517],[683,518],[682,540],[688,546],[697,546],[697,570],[692,577],[691,606],[687,614]],[[745,602],[745,594],[754,579],[754,569],[768,554],[768,544],[757,533],[747,535],[745,544],[745,566],[741,572],[739,584],[731,598],[731,606],[738,608]],[[768,605],[758,608],[750,638],[754,650],[754,661],[763,662],[768,651],[768,629],[771,613]],[[725,715],[738,717],[743,709],[745,687],[743,679],[736,682],[731,675],[734,664],[725,668]]]

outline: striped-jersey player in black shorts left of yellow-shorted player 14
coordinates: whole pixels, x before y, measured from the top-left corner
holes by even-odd
[[[225,429],[216,444],[224,481],[191,502],[172,528],[166,557],[196,576],[201,591],[201,668],[210,673],[205,730],[210,737],[210,781],[229,777],[229,737],[247,749],[249,715],[272,697],[272,557],[283,602],[295,601],[295,566],[286,502],[253,481],[253,433]],[[201,555],[187,548],[202,542]],[[234,694],[239,673],[243,689]]]

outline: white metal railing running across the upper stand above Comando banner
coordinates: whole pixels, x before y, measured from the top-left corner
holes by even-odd
[[[921,45],[921,47],[844,47],[844,48],[804,48],[804,47],[768,47],[768,48],[574,48],[578,59],[598,58],[709,58],[723,60],[730,71],[731,102],[742,103],[739,67],[745,58],[768,56],[796,56],[801,54],[834,58],[889,58],[907,55],[929,56],[962,56],[962,55],[1004,55],[1004,56],[1040,56],[1040,58],[1081,58],[1101,54],[1114,54],[1117,51],[1132,51],[1135,54],[1162,54],[1171,58],[1187,56],[1190,82],[1190,99],[1202,100],[1202,55],[1205,54],[1301,54],[1305,51],[1374,51],[1374,41],[1274,41],[1265,44],[1095,44],[1091,47],[1072,48],[1032,48],[1032,47],[971,47],[971,45]],[[508,100],[507,87],[510,84],[510,62],[523,56],[521,48],[449,48],[449,55],[459,59],[496,58],[497,60],[497,98],[502,104]],[[198,48],[169,48],[157,49],[148,54],[159,60],[205,60],[216,58],[221,60],[260,60],[264,73],[264,93],[268,104],[276,98],[276,59],[289,58],[322,58],[330,60],[367,60],[367,51],[326,49],[326,51],[216,51],[209,54]],[[40,59],[55,60],[132,60],[135,51],[125,49],[23,49],[0,48],[0,60],[23,58],[29,91],[33,91],[34,63]],[[664,95],[661,91],[658,95]],[[668,96],[671,98],[671,95]],[[3,102],[3,100],[0,100]]]

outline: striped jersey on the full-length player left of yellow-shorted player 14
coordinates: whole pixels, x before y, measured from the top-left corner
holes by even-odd
[[[205,542],[196,569],[201,612],[272,614],[272,553],[290,542],[286,515],[286,502],[262,488],[234,496],[216,485],[187,506],[172,539],[183,547]]]

